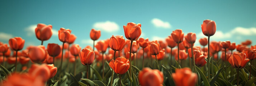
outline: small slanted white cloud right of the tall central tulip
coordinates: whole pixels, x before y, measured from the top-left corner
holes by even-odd
[[[155,25],[155,27],[160,28],[171,28],[171,24],[169,22],[163,22],[160,19],[154,18],[151,20],[151,23]]]

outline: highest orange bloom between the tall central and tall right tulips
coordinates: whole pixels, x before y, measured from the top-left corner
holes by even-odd
[[[172,31],[171,36],[176,43],[181,43],[184,39],[184,33],[181,29],[176,29]]]

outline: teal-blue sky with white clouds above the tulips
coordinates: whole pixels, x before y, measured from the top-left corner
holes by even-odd
[[[25,46],[39,45],[34,29],[38,23],[51,24],[53,35],[44,42],[58,43],[57,30],[71,29],[81,47],[92,45],[90,30],[101,30],[100,39],[123,35],[128,22],[142,24],[142,37],[150,40],[166,38],[175,29],[185,34],[202,34],[203,20],[214,20],[217,32],[210,40],[241,43],[251,39],[256,44],[255,0],[1,0],[0,41],[12,37],[25,39]],[[198,45],[196,41],[196,45]]]

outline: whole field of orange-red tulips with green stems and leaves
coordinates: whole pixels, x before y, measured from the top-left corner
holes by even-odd
[[[22,37],[0,42],[0,85],[255,86],[256,45],[211,40],[216,23],[202,20],[199,40],[182,29],[170,30],[165,40],[142,38],[143,24],[133,22],[123,25],[124,35],[104,35],[108,39],[91,29],[84,36],[93,46],[74,44],[76,34],[65,28],[58,30],[61,45],[43,46],[52,25],[37,24],[33,35],[41,45],[24,47]]]

